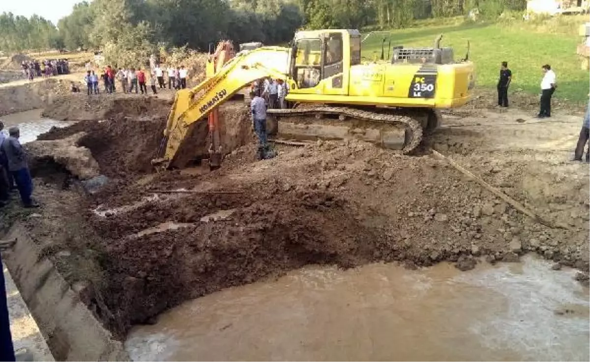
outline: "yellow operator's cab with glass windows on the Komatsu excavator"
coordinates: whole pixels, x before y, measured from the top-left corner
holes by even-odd
[[[291,47],[291,94],[348,94],[350,66],[360,64],[360,32],[297,32]]]

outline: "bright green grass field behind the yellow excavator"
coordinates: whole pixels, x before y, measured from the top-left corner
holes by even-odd
[[[558,79],[555,96],[581,105],[588,100],[590,71],[581,70],[581,58],[576,54],[581,37],[576,34],[576,29],[587,19],[550,19],[543,24],[521,21],[508,24],[422,24],[416,28],[392,31],[391,43],[431,47],[434,38],[442,33],[442,45],[453,47],[458,59],[464,57],[467,41],[470,41],[470,58],[476,65],[478,87],[495,88],[500,62],[505,60],[509,62],[513,74],[511,92],[540,93],[541,67],[550,64]],[[384,35],[373,34],[363,42],[363,57],[371,59],[375,51],[381,56]]]

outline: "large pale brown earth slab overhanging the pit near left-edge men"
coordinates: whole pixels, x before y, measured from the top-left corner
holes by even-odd
[[[100,175],[100,167],[93,158],[90,149],[78,146],[78,141],[86,136],[85,132],[76,133],[68,138],[55,141],[33,141],[25,147],[32,158],[32,167],[35,161],[51,159],[57,164],[63,165],[72,175],[80,180]]]

